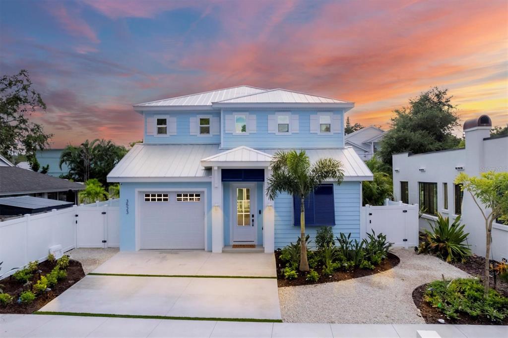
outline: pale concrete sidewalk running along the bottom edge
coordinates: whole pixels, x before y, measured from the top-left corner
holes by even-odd
[[[442,338],[506,338],[508,326],[301,324],[0,315],[1,337],[409,337],[435,330]]]

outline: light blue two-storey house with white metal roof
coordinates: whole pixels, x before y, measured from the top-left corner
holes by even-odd
[[[372,173],[344,147],[344,113],[353,107],[250,86],[135,105],[144,143],[108,175],[108,182],[120,182],[120,249],[222,252],[248,244],[273,252],[295,243],[298,198],[266,196],[270,160],[281,149],[342,162],[344,182],[324,184],[307,199],[307,232],[332,226],[336,235],[359,239],[361,184]]]

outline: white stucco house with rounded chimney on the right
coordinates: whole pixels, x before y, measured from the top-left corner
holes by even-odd
[[[420,227],[440,213],[450,218],[461,215],[472,251],[485,255],[485,221],[469,193],[454,184],[460,172],[479,176],[482,172],[508,171],[508,137],[490,137],[492,122],[487,115],[464,123],[465,148],[429,152],[401,153],[393,158],[393,192],[397,199],[419,204],[425,210]],[[493,255],[508,258],[508,226],[493,224]],[[497,238],[495,238],[497,236]],[[502,240],[501,240],[502,238]],[[501,240],[502,247],[494,243]]]

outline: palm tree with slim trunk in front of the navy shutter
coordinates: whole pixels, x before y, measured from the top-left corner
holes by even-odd
[[[270,163],[272,175],[268,178],[268,197],[273,200],[279,193],[300,197],[300,271],[309,271],[305,243],[305,198],[327,180],[340,184],[344,179],[342,163],[334,158],[320,158],[314,164],[304,150],[278,151]]]

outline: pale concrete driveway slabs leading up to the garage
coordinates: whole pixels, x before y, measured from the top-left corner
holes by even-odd
[[[273,254],[120,252],[40,311],[280,320],[275,274]]]

